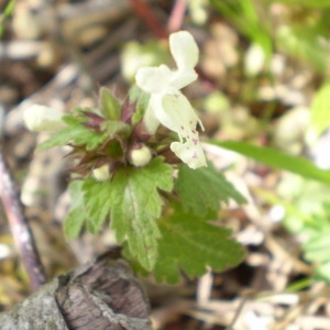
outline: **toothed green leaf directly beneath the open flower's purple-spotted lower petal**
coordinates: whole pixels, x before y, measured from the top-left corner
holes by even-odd
[[[184,210],[201,217],[209,210],[219,210],[220,201],[228,202],[230,199],[238,204],[245,201],[211,163],[208,167],[198,169],[182,165],[175,182],[175,189]]]

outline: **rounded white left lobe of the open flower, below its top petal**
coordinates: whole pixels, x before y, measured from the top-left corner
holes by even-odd
[[[138,70],[136,85],[146,92],[162,94],[169,87],[172,72],[166,65],[142,67]]]

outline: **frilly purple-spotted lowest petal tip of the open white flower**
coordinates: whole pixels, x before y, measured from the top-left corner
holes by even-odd
[[[191,141],[185,143],[173,142],[170,150],[193,169],[207,166],[205,154],[199,142],[197,144],[194,144]]]

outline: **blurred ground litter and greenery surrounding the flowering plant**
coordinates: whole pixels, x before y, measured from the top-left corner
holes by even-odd
[[[113,234],[65,241],[69,165],[63,151],[33,154],[46,136],[23,128],[22,111],[95,107],[102,85],[124,98],[139,67],[170,64],[166,34],[188,30],[200,79],[185,94],[205,123],[209,158],[249,200],[219,215],[248,256],[177,287],[145,279],[154,327],[330,329],[329,14],[328,0],[0,1],[1,143],[50,278],[107,250]],[[208,139],[292,157],[271,152],[266,166],[253,151],[246,158]],[[301,158],[324,180],[310,179]],[[280,170],[285,162],[300,175]],[[0,208],[1,309],[28,294]]]

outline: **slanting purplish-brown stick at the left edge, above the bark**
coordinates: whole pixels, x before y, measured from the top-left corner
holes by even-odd
[[[24,208],[15,189],[15,184],[6,163],[0,147],[0,198],[9,221],[16,248],[23,258],[23,264],[30,277],[33,290],[40,288],[46,280],[32,231],[29,227]]]

